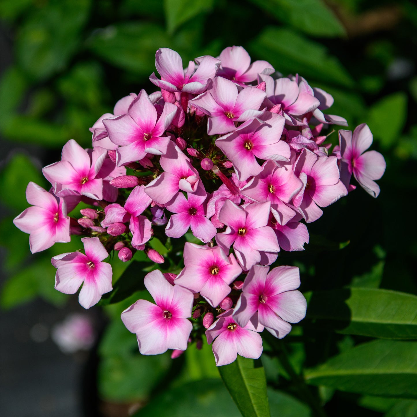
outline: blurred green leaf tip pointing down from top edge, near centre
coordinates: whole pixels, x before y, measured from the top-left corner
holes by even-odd
[[[176,28],[191,18],[208,13],[213,6],[213,0],[164,0],[163,8],[168,33],[172,35]]]

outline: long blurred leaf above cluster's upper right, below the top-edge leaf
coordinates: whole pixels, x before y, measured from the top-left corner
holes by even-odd
[[[284,75],[300,73],[308,81],[354,85],[347,70],[323,45],[291,30],[267,27],[249,46],[252,55],[263,57]]]

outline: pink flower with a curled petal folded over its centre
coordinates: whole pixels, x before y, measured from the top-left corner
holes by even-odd
[[[200,178],[190,160],[170,141],[165,155],[159,163],[165,172],[151,181],[145,188],[146,194],[159,204],[166,204],[179,191],[195,193]],[[200,190],[203,188],[200,187]],[[205,191],[204,191],[205,193]]]

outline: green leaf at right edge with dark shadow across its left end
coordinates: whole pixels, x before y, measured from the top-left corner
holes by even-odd
[[[304,296],[306,325],[383,339],[417,338],[417,297],[412,294],[354,287]]]

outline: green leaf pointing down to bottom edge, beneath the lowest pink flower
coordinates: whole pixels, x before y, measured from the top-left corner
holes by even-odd
[[[260,360],[238,355],[229,365],[219,367],[221,379],[244,417],[268,417],[266,377]]]

